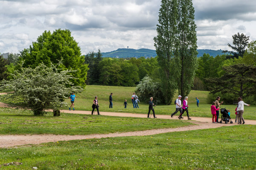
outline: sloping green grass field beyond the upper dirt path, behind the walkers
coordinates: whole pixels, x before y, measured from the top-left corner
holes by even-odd
[[[131,95],[134,92],[135,87],[118,87],[118,86],[86,86],[85,92],[76,94],[75,108],[77,110],[92,110],[92,104],[95,95],[99,99],[99,110],[105,112],[128,112],[128,113],[148,113],[148,104],[141,102],[139,104],[139,109],[134,109],[131,102]],[[109,109],[109,95],[113,92],[113,109]],[[189,115],[196,117],[212,117],[211,105],[207,104],[207,95],[209,92],[206,91],[195,91],[192,90],[189,94],[188,104],[189,104]],[[175,96],[177,96],[176,94]],[[200,100],[199,107],[196,106],[195,97]],[[177,97],[174,98],[174,100]],[[123,103],[125,99],[128,102],[128,107],[125,109]],[[173,101],[174,101],[173,100]],[[70,101],[67,100],[70,105]],[[231,118],[236,118],[235,109],[236,105],[221,105],[222,108],[226,107],[230,109]],[[68,109],[68,108],[64,108]],[[244,106],[244,119],[256,120],[255,106]],[[171,115],[175,111],[174,103],[170,106],[157,105],[155,107],[156,114],[159,115]]]

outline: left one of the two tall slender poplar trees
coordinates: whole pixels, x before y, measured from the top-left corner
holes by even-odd
[[[165,94],[166,104],[171,104],[177,89],[177,72],[175,53],[177,52],[177,0],[162,0],[157,24],[157,37],[154,37],[154,46],[157,52],[157,61],[160,66],[162,92]]]

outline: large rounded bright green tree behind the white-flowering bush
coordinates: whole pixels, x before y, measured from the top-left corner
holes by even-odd
[[[51,63],[62,62],[62,67],[70,70],[76,70],[72,75],[74,85],[85,85],[87,77],[87,66],[84,63],[84,56],[81,56],[81,50],[71,32],[68,29],[57,29],[52,33],[44,31],[37,41],[33,42],[29,49],[21,52],[23,67],[35,68],[40,63],[50,66]]]

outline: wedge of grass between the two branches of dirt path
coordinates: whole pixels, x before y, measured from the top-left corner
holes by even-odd
[[[0,108],[0,134],[56,134],[88,135],[114,132],[131,132],[159,128],[187,126],[186,121],[111,117],[103,115],[79,115],[52,112],[34,116],[29,110]]]

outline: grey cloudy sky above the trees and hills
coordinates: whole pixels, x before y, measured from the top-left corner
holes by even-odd
[[[44,30],[70,29],[82,54],[154,49],[161,0],[0,0],[0,53],[28,48]],[[256,40],[255,0],[193,0],[198,49],[229,49],[237,32]]]

